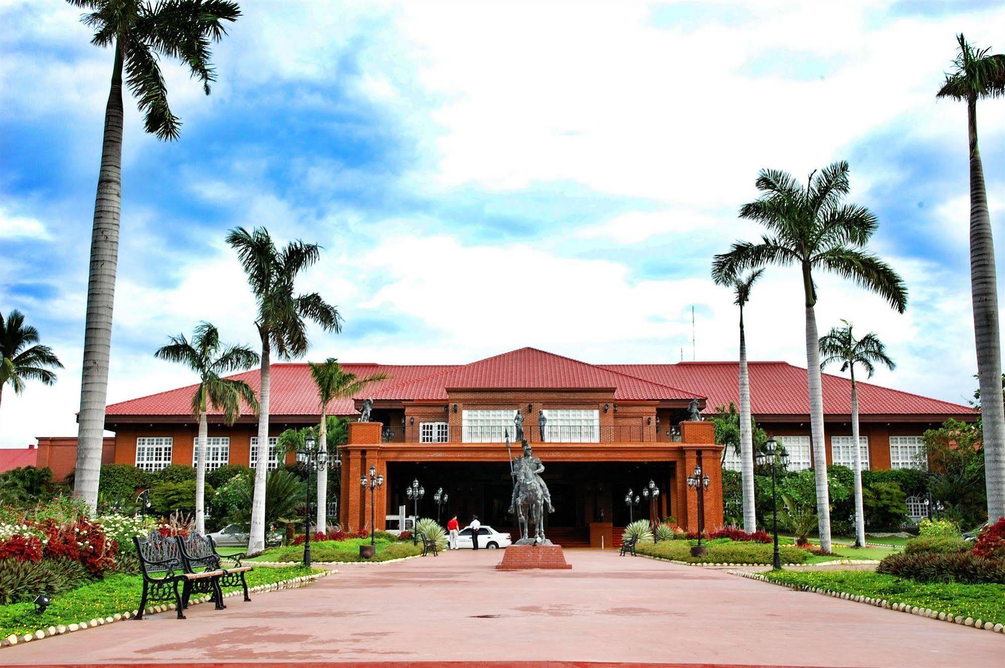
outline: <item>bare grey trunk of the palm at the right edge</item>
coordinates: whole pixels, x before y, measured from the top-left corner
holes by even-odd
[[[984,187],[984,167],[977,147],[977,98],[967,100],[970,140],[970,285],[974,304],[977,376],[984,425],[985,484],[988,517],[1005,516],[1005,408],[1002,406],[1001,340],[998,285],[991,216]]]

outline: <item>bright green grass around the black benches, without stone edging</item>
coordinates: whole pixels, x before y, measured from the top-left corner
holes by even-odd
[[[321,569],[309,570],[299,566],[258,567],[246,577],[250,588],[321,572]],[[224,592],[235,589],[237,588],[224,588]],[[92,619],[132,612],[139,608],[142,592],[142,576],[120,574],[52,597],[52,605],[41,615],[35,613],[31,603],[0,606],[0,638],[6,638],[11,634],[34,633],[50,626],[89,623]]]

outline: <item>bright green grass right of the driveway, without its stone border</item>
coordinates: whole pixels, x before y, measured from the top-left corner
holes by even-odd
[[[765,576],[786,585],[845,592],[1005,624],[1005,585],[925,584],[869,571],[782,571]]]

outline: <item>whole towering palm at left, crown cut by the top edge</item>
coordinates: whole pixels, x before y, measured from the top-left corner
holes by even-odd
[[[162,140],[178,138],[181,122],[168,106],[168,89],[159,56],[178,58],[192,76],[209,84],[216,78],[210,42],[219,41],[224,21],[240,15],[226,0],[67,0],[88,13],[81,21],[94,29],[91,43],[113,46],[112,84],[105,106],[102,167],[94,200],[84,321],[83,373],[76,451],[74,494],[90,509],[97,505],[97,479],[109,389],[112,309],[119,262],[119,215],[122,209],[123,75],[144,115],[146,131]]]

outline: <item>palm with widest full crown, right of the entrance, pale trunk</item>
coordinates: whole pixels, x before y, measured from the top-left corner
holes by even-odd
[[[740,209],[740,217],[768,229],[760,243],[737,241],[730,252],[716,255],[712,275],[717,282],[769,264],[795,264],[802,274],[806,307],[806,377],[810,399],[810,432],[816,473],[820,545],[830,551],[830,499],[823,433],[820,344],[817,340],[816,284],[813,269],[822,268],[878,293],[898,312],[908,305],[908,290],[893,269],[865,244],[875,232],[876,218],[865,207],[843,203],[848,194],[848,163],[814,171],[804,187],[787,172],[762,170],[757,188],[763,195]]]

